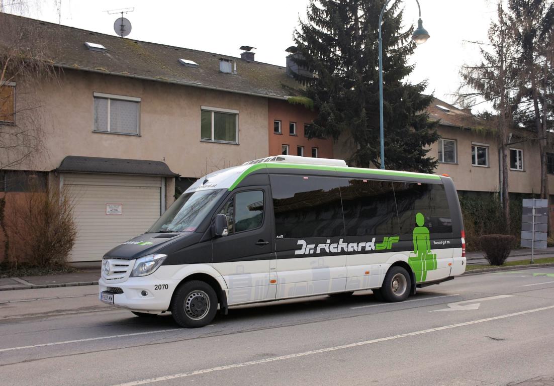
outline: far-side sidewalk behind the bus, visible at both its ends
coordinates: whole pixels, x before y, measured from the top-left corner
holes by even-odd
[[[554,247],[535,250],[535,258],[550,258],[554,257]],[[487,264],[482,252],[469,252],[466,254],[468,264]],[[512,250],[506,261],[515,260],[531,260],[530,249],[515,249]],[[44,276],[22,276],[22,277],[6,277],[0,279],[0,291],[9,290],[24,290],[24,289],[39,289],[52,287],[73,287],[96,285],[100,278],[100,264],[96,266],[76,266],[79,271],[70,274],[59,275],[44,275]],[[515,267],[506,267],[507,269],[516,269]],[[495,268],[498,269],[498,268]]]

